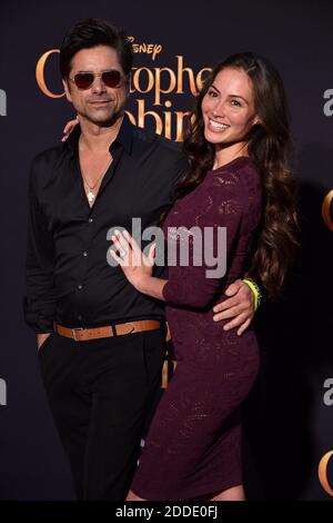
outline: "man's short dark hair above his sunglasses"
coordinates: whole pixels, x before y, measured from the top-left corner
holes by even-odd
[[[132,46],[123,30],[112,26],[107,20],[88,18],[78,22],[65,34],[60,48],[60,72],[62,78],[69,77],[72,58],[81,49],[97,46],[112,47],[118,55],[123,72],[128,76],[133,63]]]

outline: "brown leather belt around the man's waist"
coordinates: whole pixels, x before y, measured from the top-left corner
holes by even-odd
[[[160,327],[161,322],[157,319],[141,319],[139,322],[129,322],[93,328],[69,328],[54,323],[56,333],[60,334],[60,336],[74,339],[75,342],[89,342],[90,339],[110,338],[113,336],[123,336],[125,334],[142,333],[143,330],[157,330]]]

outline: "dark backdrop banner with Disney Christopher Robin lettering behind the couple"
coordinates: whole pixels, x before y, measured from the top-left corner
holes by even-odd
[[[255,317],[262,366],[243,409],[245,487],[251,500],[333,500],[333,3],[325,0],[1,4],[0,500],[74,499],[22,298],[29,167],[75,116],[59,47],[88,17],[125,29],[134,50],[128,115],[172,140],[181,141],[195,93],[228,55],[255,51],[280,70],[301,180],[302,248],[283,299],[264,303]],[[169,355],[162,386],[173,367]]]

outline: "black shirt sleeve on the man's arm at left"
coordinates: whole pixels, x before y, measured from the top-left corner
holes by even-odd
[[[38,160],[29,177],[27,240],[27,294],[23,299],[26,323],[39,334],[53,330],[56,297],[53,286],[54,246],[38,196]]]

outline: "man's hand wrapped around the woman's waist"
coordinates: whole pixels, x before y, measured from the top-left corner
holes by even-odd
[[[224,330],[230,330],[234,327],[238,329],[240,336],[251,324],[254,316],[254,296],[249,285],[244,284],[241,279],[236,279],[225,289],[225,295],[230,296],[229,299],[214,306],[213,316],[214,322],[221,319],[233,318],[231,322],[223,326]]]

